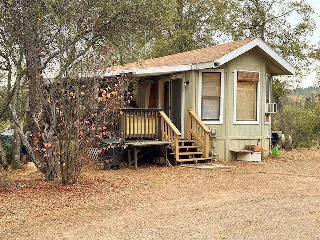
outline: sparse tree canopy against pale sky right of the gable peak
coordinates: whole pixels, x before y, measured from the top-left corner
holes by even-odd
[[[312,17],[314,9],[305,1],[295,0],[234,0],[236,3],[227,18],[235,40],[259,36],[296,69],[297,81],[311,65],[309,53],[312,46],[307,36],[316,27]],[[296,19],[291,23],[289,19]]]

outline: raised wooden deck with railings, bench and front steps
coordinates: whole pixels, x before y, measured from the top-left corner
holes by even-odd
[[[110,114],[108,128],[114,137],[128,146],[129,167],[137,169],[137,160],[143,156],[141,148],[157,146],[165,154],[166,165],[167,148],[174,156],[174,165],[178,162],[208,161],[209,157],[209,129],[192,110],[188,110],[187,139],[181,139],[181,132],[176,128],[163,109],[156,108],[125,108]],[[185,142],[191,142],[185,145]],[[131,151],[134,160],[131,161]],[[143,150],[144,151],[144,150]]]

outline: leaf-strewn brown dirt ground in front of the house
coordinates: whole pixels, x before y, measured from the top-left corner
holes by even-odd
[[[320,239],[320,150],[219,163],[235,167],[91,165],[68,187],[0,171],[0,239]]]

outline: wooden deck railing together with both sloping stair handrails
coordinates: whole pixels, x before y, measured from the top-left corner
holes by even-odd
[[[181,132],[176,128],[163,109],[127,108],[110,115],[109,129],[122,140],[162,140],[171,141],[175,160],[179,160],[179,138]],[[188,110],[187,139],[197,140],[203,147],[204,156],[209,156],[209,128],[194,110]]]

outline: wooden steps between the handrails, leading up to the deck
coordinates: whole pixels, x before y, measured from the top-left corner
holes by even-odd
[[[198,144],[198,141],[196,140],[184,140],[179,139],[178,141],[178,159],[174,159],[174,165],[177,165],[178,162],[189,162],[189,163],[195,163],[198,164],[199,161],[205,161],[211,159],[211,157],[203,157],[204,151],[202,145],[196,145]],[[170,152],[170,155],[175,155],[174,150]]]

